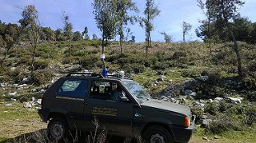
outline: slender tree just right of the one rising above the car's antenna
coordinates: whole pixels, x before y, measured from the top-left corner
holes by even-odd
[[[117,6],[117,30],[119,35],[119,45],[122,54],[122,42],[124,41],[124,29],[128,22],[134,24],[135,17],[132,17],[128,14],[129,11],[138,12],[138,8],[135,6],[135,3],[132,0],[115,0]]]

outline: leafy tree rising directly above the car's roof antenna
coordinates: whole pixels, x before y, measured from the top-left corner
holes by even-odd
[[[104,46],[108,40],[113,39],[116,29],[116,11],[117,6],[114,0],[94,0],[94,19],[99,30],[102,31],[102,54],[104,54]],[[106,63],[102,58],[103,69],[106,69]]]

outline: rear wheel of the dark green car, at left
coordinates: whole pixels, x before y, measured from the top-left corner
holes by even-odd
[[[47,126],[47,136],[51,141],[64,142],[69,139],[70,131],[63,118],[53,118]]]

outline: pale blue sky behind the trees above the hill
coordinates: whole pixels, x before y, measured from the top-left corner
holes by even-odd
[[[256,0],[243,0],[245,3],[239,10],[242,17],[248,17],[251,22],[256,22]],[[50,27],[52,30],[63,28],[62,11],[68,14],[70,22],[73,24],[73,32],[82,31],[87,26],[88,34],[92,38],[93,34],[101,37],[98,30],[94,14],[94,7],[91,6],[93,0],[0,0],[0,20],[6,23],[17,23],[22,18],[22,8],[27,5],[34,5],[38,10],[38,18],[41,25]],[[140,12],[138,16],[143,16],[146,0],[133,0]],[[169,34],[173,42],[182,41],[182,22],[192,25],[190,33],[186,35],[186,41],[200,41],[195,34],[195,29],[200,26],[198,20],[206,19],[202,10],[197,6],[197,0],[154,0],[160,15],[154,19],[154,31],[151,39],[154,42],[164,42],[161,32]],[[145,30],[138,23],[128,25],[135,36],[136,42],[145,41]],[[130,37],[129,37],[130,39]]]

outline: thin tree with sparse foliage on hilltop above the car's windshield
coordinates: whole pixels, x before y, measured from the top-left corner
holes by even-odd
[[[140,21],[140,26],[142,28],[145,26],[146,32],[146,55],[148,54],[148,49],[151,46],[151,31],[154,30],[153,20],[160,14],[160,10],[158,10],[158,6],[155,6],[154,0],[146,0],[146,9],[143,14],[145,18],[142,18]]]

